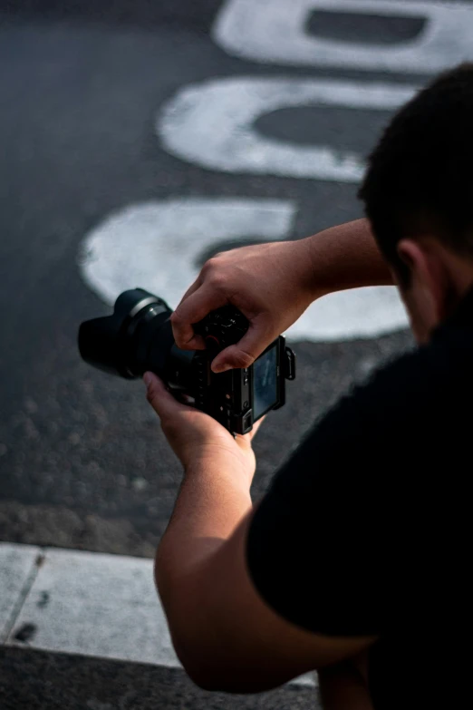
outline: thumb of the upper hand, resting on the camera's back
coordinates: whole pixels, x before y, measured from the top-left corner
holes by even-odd
[[[270,345],[277,333],[273,332],[269,318],[265,314],[256,316],[251,322],[245,336],[235,345],[229,345],[215,356],[212,361],[214,373],[222,373],[232,367],[241,368],[253,365],[265,348]]]

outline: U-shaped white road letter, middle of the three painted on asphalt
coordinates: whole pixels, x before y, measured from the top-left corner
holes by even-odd
[[[334,79],[231,77],[190,84],[159,109],[164,148],[182,160],[227,172],[357,182],[362,155],[335,146],[304,146],[265,138],[254,129],[265,113],[289,106],[399,108],[415,86]]]

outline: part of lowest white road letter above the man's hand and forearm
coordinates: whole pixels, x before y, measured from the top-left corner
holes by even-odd
[[[209,248],[244,237],[284,239],[295,216],[279,199],[169,199],[132,205],[92,230],[81,269],[106,302],[140,286],[178,306]]]

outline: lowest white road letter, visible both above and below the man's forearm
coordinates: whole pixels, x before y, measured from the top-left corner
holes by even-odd
[[[199,255],[236,238],[289,238],[295,211],[292,202],[276,199],[171,199],[131,206],[92,230],[82,277],[110,305],[121,291],[140,286],[175,308],[198,276]],[[368,287],[321,298],[286,335],[342,340],[407,325],[394,287]]]

